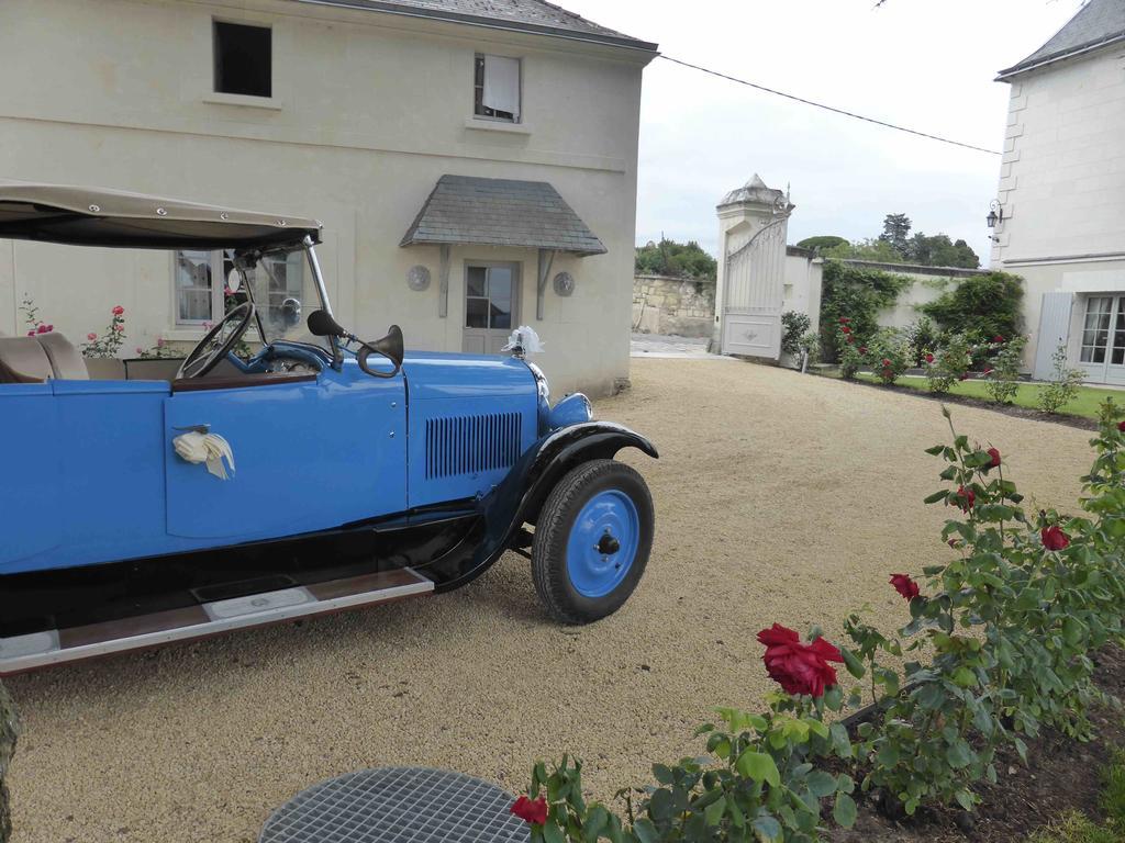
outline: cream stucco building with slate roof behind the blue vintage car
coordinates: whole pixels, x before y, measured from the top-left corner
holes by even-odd
[[[316,217],[357,333],[490,351],[530,324],[557,391],[604,393],[629,374],[655,55],[541,0],[3,0],[0,178]],[[74,339],[122,305],[125,352],[187,344],[223,269],[0,241],[0,332],[29,297]]]

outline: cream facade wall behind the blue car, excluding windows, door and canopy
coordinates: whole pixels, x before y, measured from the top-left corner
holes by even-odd
[[[210,92],[215,18],[272,27],[271,100]],[[471,119],[477,52],[522,60],[521,126]],[[413,348],[460,351],[466,260],[516,261],[552,387],[628,377],[648,54],[286,0],[3,0],[0,56],[0,178],[316,217],[338,315],[366,336],[398,323]],[[548,283],[540,323],[536,252],[453,248],[440,319],[438,247],[398,243],[446,173],[548,181],[609,253],[556,259],[576,288]],[[425,292],[406,285],[414,264],[431,270]],[[0,332],[21,327],[24,293],[73,337],[125,306],[129,351],[199,334],[173,324],[168,253],[0,241]]]

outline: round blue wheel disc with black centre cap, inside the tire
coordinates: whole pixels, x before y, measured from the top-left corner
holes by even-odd
[[[570,584],[583,597],[605,597],[629,575],[640,544],[632,498],[611,489],[586,501],[566,545]]]

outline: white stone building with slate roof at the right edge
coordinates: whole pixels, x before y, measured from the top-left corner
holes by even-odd
[[[992,266],[1027,281],[1028,363],[1125,383],[1125,2],[1089,0],[1011,85]]]

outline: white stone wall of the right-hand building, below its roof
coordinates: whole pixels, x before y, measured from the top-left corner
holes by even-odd
[[[1107,273],[1104,292],[1125,291],[1125,49],[1050,64],[1010,84],[997,193],[1005,219],[991,263],[1027,282],[1029,365],[1044,292],[1088,272]],[[1071,343],[1077,354],[1073,332]]]

